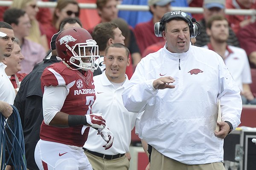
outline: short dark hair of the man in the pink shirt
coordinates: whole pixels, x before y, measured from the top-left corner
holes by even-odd
[[[24,16],[26,12],[22,9],[11,8],[6,9],[3,13],[3,21],[9,24],[14,23],[15,25],[19,24],[19,18]]]

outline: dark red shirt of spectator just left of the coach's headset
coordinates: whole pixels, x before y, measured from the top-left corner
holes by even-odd
[[[148,46],[164,41],[163,37],[155,36],[153,19],[148,22],[138,23],[135,26],[134,32],[142,54]]]

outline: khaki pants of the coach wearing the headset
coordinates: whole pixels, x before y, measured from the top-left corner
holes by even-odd
[[[150,170],[225,170],[222,162],[210,164],[187,165],[163,156],[152,147]]]

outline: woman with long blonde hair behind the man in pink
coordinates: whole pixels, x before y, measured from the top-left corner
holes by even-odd
[[[11,8],[22,9],[28,14],[31,28],[29,29],[29,35],[27,38],[35,43],[41,44],[44,47],[45,52],[47,52],[49,47],[46,35],[43,30],[40,29],[38,20],[36,20],[36,15],[39,11],[36,2],[37,0],[12,0]]]

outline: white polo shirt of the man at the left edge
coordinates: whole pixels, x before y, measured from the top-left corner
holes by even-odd
[[[13,105],[16,94],[9,77],[6,75],[6,67],[4,63],[0,62],[0,101]]]

